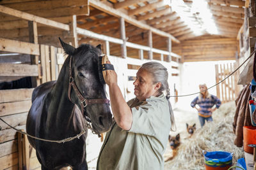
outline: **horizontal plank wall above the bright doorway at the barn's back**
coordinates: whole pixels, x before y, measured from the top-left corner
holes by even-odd
[[[182,56],[182,62],[235,60],[236,38],[220,36],[200,36],[182,41],[172,47],[172,51]]]

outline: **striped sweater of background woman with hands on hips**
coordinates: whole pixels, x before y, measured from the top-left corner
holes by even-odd
[[[200,94],[201,95],[201,94]],[[195,108],[196,104],[200,106],[201,110],[199,111],[199,115],[201,117],[211,117],[212,113],[211,111],[208,111],[209,108],[212,108],[214,104],[216,104],[216,108],[220,108],[221,101],[218,99],[218,97],[209,94],[206,98],[196,97],[192,102],[191,102],[191,107]]]

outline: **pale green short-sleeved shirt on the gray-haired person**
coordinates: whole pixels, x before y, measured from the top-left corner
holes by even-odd
[[[163,153],[171,128],[166,97],[149,97],[127,103],[132,110],[132,126],[124,131],[113,122],[100,150],[97,170],[161,170]]]

